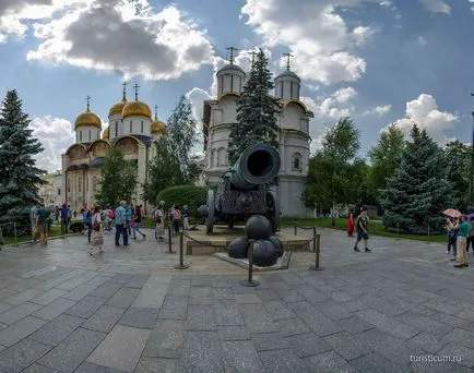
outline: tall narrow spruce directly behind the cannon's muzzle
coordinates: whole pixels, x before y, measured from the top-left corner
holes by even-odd
[[[280,105],[279,100],[270,95],[273,81],[268,64],[269,60],[260,49],[244,91],[237,98],[237,123],[232,127],[228,143],[230,165],[250,145],[264,143],[279,148],[276,113]]]

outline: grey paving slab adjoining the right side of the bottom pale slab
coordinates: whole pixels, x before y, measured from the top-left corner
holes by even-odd
[[[144,357],[179,359],[185,341],[185,322],[158,320],[143,350]]]

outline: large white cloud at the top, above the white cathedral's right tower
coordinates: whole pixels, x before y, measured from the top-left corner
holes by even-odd
[[[355,7],[379,0],[247,0],[241,13],[263,37],[266,47],[289,47],[294,70],[301,79],[323,84],[354,82],[366,71],[366,62],[353,49],[375,28],[349,29],[336,7]]]

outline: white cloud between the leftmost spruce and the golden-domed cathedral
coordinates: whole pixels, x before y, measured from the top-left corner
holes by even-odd
[[[29,123],[33,136],[38,139],[44,151],[36,156],[36,165],[49,172],[61,169],[61,154],[74,143],[72,123],[62,118],[45,116]]]

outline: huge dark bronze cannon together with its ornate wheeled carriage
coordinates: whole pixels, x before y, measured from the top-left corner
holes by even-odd
[[[205,217],[206,233],[216,222],[233,227],[252,215],[264,215],[273,232],[280,229],[280,201],[271,184],[276,184],[281,160],[279,152],[266,144],[247,147],[223,176],[217,190],[208,191],[206,204],[200,207]]]

